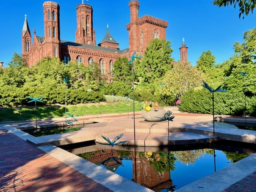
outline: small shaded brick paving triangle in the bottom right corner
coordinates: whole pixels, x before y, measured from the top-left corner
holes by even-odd
[[[244,177],[222,192],[256,192],[256,172]]]

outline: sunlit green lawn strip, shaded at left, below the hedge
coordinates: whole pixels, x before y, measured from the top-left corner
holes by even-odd
[[[132,102],[116,102],[114,104],[93,104],[91,106],[70,106],[67,112],[70,114],[82,116],[90,114],[109,114],[109,113],[124,113],[133,111]],[[135,111],[141,109],[141,104],[135,103]],[[20,121],[20,120],[35,120],[57,118],[65,116],[64,106],[38,106],[37,109],[24,106],[22,108],[0,108],[1,121]]]

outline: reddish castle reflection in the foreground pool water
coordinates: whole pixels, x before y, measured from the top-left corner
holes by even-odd
[[[167,166],[164,171],[156,171],[150,164],[153,159],[147,159],[144,153],[145,152],[106,149],[95,151],[86,159],[94,164],[103,165],[106,169],[112,172],[116,172],[119,166],[124,166],[122,160],[132,160],[132,181],[156,192],[163,189],[174,191],[171,190],[173,186],[170,178],[169,166]],[[164,153],[168,154],[168,152]]]

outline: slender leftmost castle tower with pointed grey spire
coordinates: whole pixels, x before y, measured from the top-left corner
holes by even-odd
[[[25,14],[25,20],[22,28],[22,56],[28,63],[28,54],[31,52],[31,34],[28,27],[27,15]]]

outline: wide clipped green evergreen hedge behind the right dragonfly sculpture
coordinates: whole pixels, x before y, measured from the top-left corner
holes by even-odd
[[[212,114],[212,93],[206,89],[194,89],[186,92],[179,104],[181,111],[189,113]],[[246,96],[241,92],[228,91],[214,93],[214,114],[222,115],[255,115],[256,97]]]

